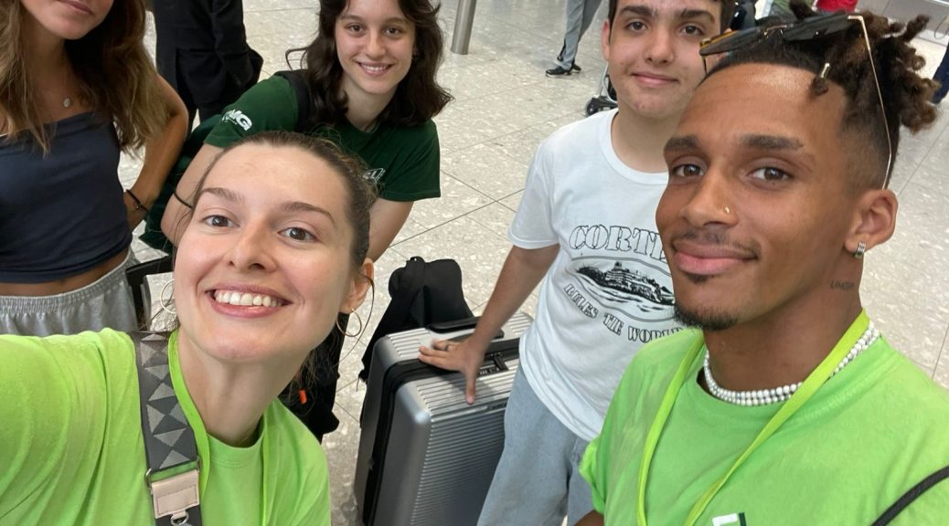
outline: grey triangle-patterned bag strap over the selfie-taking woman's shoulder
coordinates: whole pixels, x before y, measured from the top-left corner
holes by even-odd
[[[201,526],[195,432],[178,403],[168,368],[167,334],[132,333],[139,372],[141,437],[157,526]]]

